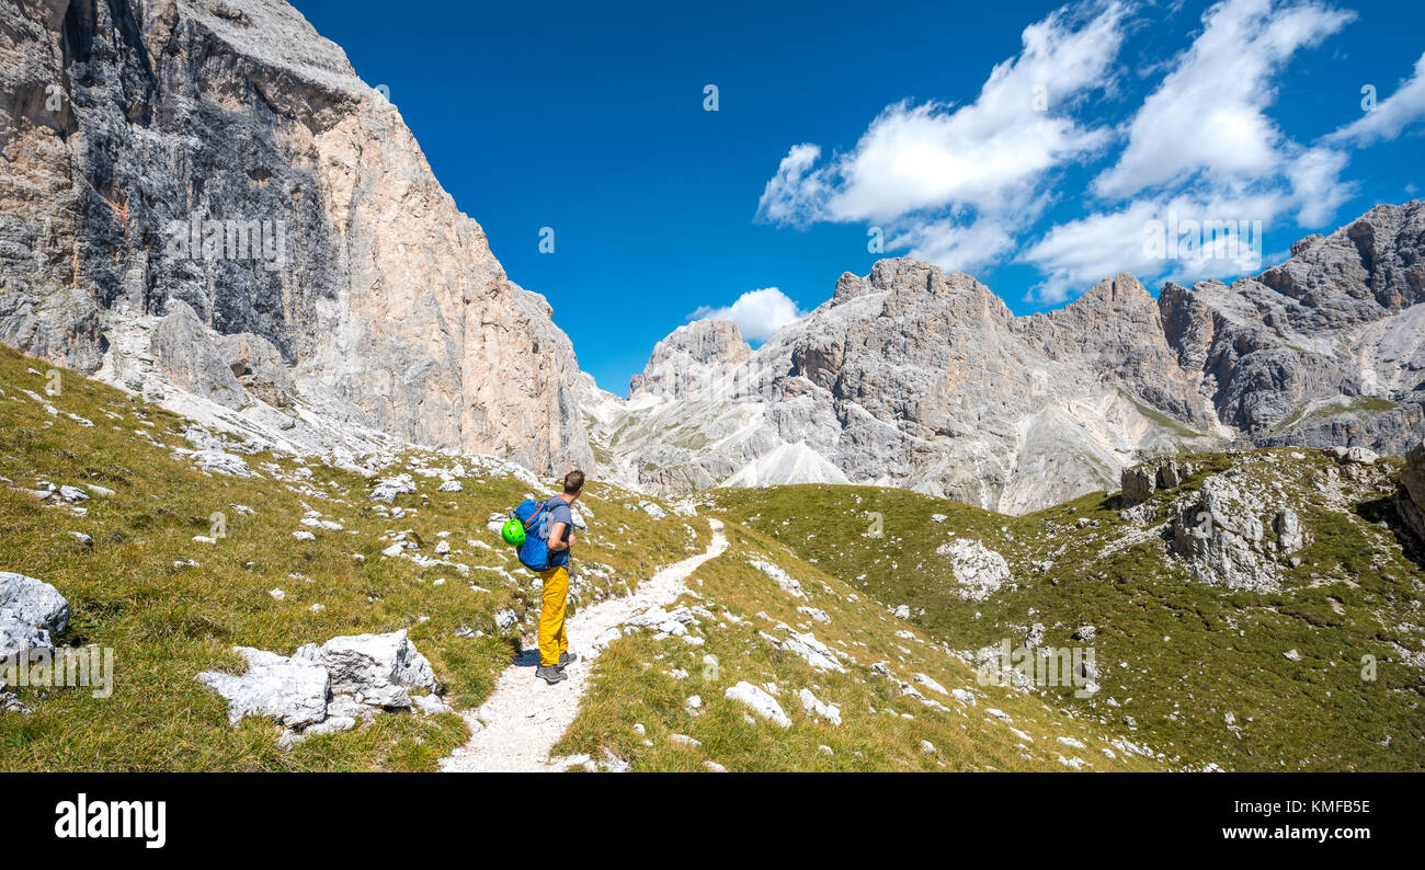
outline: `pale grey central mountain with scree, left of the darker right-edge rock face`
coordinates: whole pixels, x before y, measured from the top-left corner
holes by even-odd
[[[656,355],[590,433],[643,486],[871,483],[1022,513],[1112,488],[1139,454],[1218,443],[1161,336],[1130,275],[1015,318],[969,275],[886,259],[741,362],[704,352],[722,372],[711,386],[647,389],[667,380]]]

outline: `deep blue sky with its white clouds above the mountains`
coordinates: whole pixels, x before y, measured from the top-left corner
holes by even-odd
[[[755,339],[881,256],[1027,313],[1255,273],[1425,185],[1414,0],[294,4],[620,394],[690,316]]]

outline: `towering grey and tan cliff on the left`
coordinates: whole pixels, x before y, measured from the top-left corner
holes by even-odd
[[[549,305],[291,6],[0,0],[0,339],[312,443],[590,461]]]

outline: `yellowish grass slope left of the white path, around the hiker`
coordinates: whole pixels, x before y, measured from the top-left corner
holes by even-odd
[[[519,644],[517,628],[500,635],[494,614],[513,608],[527,621],[536,615],[530,608],[537,611],[530,577],[484,528],[489,514],[524,497],[526,484],[503,476],[466,478],[463,493],[437,493],[437,478],[418,476],[420,493],[396,500],[415,515],[386,518],[366,497],[372,481],[321,464],[304,470],[291,456],[245,457],[261,478],[197,471],[172,456],[172,447],[187,446],[185,421],[70,372],[60,396],[44,396],[48,370],[0,347],[0,477],[13,481],[0,481],[0,571],[56,585],[74,609],[58,641],[114,648],[115,686],[107,699],[86,689],[19,689],[34,712],[0,713],[0,769],[423,770],[466,738],[455,715],[382,715],[282,752],[271,722],[249,718],[228,728],[225,702],[194,678],[205,669],[241,672],[234,645],[291,654],[336,635],[408,628],[450,701],[457,708],[479,703]],[[435,456],[403,458],[415,467],[452,464]],[[77,517],[21,491],[38,480],[98,484],[115,494],[91,498],[84,503],[88,515]],[[626,508],[634,498],[613,487],[591,484],[584,501],[591,531],[576,550],[586,570],[576,607],[637,585],[707,545],[705,523],[673,514],[656,521]],[[232,504],[256,513],[239,514]],[[345,531],[294,538],[306,507]],[[215,511],[225,514],[227,537],[192,541],[209,534]],[[449,531],[449,561],[506,568],[513,582],[493,571],[463,578],[456,568],[383,558],[389,540],[382,538],[403,530],[420,535],[425,555],[433,555],[437,533]],[[93,547],[70,531],[91,535]],[[467,538],[492,548],[472,547]],[[187,560],[198,565],[174,564]],[[445,582],[436,585],[439,580]],[[274,588],[286,598],[275,601],[268,595]],[[314,604],[325,612],[309,612]],[[484,636],[459,638],[462,627]]]

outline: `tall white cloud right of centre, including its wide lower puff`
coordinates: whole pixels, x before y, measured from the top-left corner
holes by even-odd
[[[1328,221],[1352,195],[1341,181],[1348,155],[1291,141],[1265,110],[1292,56],[1352,17],[1314,1],[1224,0],[1207,10],[1203,31],[1129,122],[1117,161],[1090,185],[1117,205],[1052,226],[1020,255],[1046,275],[1033,296],[1063,302],[1120,271],[1178,281],[1250,273],[1261,268],[1251,228],[1285,215]],[[1247,232],[1201,243],[1201,228],[1228,222]],[[1180,224],[1193,245],[1149,243]]]

